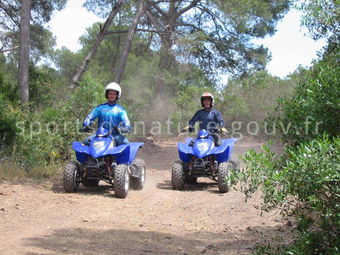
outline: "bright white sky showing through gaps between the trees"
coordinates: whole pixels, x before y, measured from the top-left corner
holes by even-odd
[[[101,21],[83,8],[83,3],[83,0],[69,0],[65,9],[52,17],[49,26],[56,36],[57,48],[65,46],[74,52],[79,50],[79,37],[86,32],[87,27]],[[270,74],[284,78],[299,65],[310,66],[326,42],[314,41],[305,36],[306,33],[306,29],[300,28],[300,13],[292,10],[278,23],[274,36],[255,41],[271,52],[272,60],[267,65]]]

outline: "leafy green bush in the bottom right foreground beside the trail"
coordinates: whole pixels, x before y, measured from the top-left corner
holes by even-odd
[[[269,147],[249,151],[240,173],[247,197],[261,187],[261,209],[280,208],[293,215],[300,235],[292,247],[277,254],[336,254],[340,231],[340,138],[327,136],[297,147],[286,147],[275,157]]]

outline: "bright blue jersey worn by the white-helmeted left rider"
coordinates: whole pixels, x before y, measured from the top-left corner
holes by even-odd
[[[98,105],[85,118],[83,125],[90,126],[90,124],[98,118],[98,127],[104,127],[117,133],[117,127],[124,127],[131,129],[130,121],[125,109],[114,103],[109,102]]]

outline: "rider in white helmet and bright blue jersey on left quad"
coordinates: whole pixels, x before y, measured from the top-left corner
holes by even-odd
[[[121,133],[131,131],[131,125],[125,109],[117,104],[122,95],[120,86],[115,83],[109,83],[105,88],[105,97],[107,102],[95,107],[85,118],[81,131],[89,131],[90,125],[98,118],[98,128],[103,127],[111,130],[116,145],[129,143],[128,139]],[[89,145],[95,135],[85,139],[84,144]]]

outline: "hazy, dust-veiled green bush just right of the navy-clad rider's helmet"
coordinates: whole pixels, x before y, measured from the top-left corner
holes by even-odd
[[[235,125],[242,122],[239,130],[251,135],[247,125],[256,122],[259,127],[257,136],[270,135],[271,130],[268,129],[272,125],[265,125],[264,120],[273,111],[280,96],[291,96],[296,86],[295,76],[296,73],[283,80],[267,71],[257,71],[241,78],[231,78],[221,91],[216,107],[224,115],[229,129],[236,129],[237,126],[232,126],[233,122]]]

